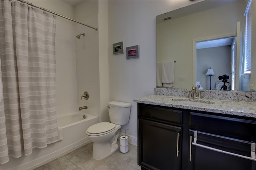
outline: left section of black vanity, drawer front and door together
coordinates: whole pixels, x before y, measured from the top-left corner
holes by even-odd
[[[142,169],[180,170],[182,114],[176,109],[138,105],[138,164]]]

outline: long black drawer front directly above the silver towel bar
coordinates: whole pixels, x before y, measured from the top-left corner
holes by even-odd
[[[190,112],[190,128],[241,140],[256,141],[256,121]]]

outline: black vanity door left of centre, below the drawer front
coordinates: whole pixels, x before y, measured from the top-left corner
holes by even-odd
[[[181,127],[138,119],[138,164],[152,170],[179,170]]]

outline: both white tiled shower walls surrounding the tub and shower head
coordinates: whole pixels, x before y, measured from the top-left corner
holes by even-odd
[[[98,28],[98,2],[81,1],[73,7],[65,1],[29,1],[48,10]],[[98,116],[100,107],[98,31],[56,16],[57,116],[78,111]],[[76,35],[85,33],[80,40]],[[84,91],[89,99],[81,100]]]

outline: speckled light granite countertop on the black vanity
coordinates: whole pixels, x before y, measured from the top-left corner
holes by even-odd
[[[175,101],[178,100],[178,101]],[[202,103],[179,103],[179,101],[198,101]],[[187,97],[150,95],[138,99],[134,102],[150,105],[167,106],[181,109],[191,109],[196,111],[208,111],[228,115],[238,115],[256,118],[256,102],[233,101],[220,99],[188,99]],[[209,104],[213,103],[213,104]]]

